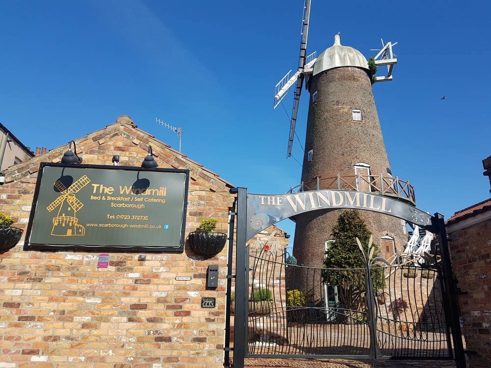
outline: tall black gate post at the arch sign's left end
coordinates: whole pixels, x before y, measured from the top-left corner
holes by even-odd
[[[237,195],[237,242],[235,248],[234,368],[244,368],[246,354],[246,212],[247,189]]]

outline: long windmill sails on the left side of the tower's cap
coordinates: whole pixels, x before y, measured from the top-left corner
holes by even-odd
[[[286,158],[292,156],[293,138],[295,137],[295,125],[297,124],[297,114],[299,112],[300,93],[302,91],[303,79],[307,74],[312,74],[312,67],[317,60],[317,52],[313,52],[310,55],[307,54],[307,35],[308,24],[310,19],[310,0],[304,0],[303,3],[303,16],[302,26],[300,28],[300,57],[299,57],[299,69],[297,72],[292,73],[290,70],[274,87],[274,100],[273,108],[283,100],[290,87],[296,84],[295,95],[293,99],[292,117],[290,119],[290,134],[288,138],[288,152]]]

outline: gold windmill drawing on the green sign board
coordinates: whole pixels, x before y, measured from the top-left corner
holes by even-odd
[[[85,228],[80,225],[77,211],[83,207],[83,203],[75,196],[85,185],[90,183],[86,175],[82,176],[68,188],[59,180],[55,182],[55,188],[61,193],[46,209],[51,212],[59,206],[58,213],[53,217],[53,229],[51,235],[57,237],[72,237],[85,235]]]

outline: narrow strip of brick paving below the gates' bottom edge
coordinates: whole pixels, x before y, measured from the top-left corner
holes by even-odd
[[[387,360],[355,361],[345,359],[246,359],[249,368],[456,368],[453,361]]]

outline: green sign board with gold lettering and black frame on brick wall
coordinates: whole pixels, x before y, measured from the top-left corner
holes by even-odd
[[[28,248],[184,249],[189,170],[42,163]]]

